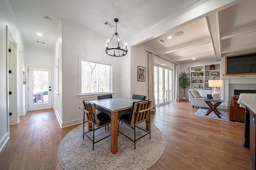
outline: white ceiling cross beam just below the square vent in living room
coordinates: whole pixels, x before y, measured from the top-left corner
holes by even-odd
[[[202,38],[198,38],[192,41],[188,41],[186,43],[181,43],[178,45],[174,45],[172,47],[167,47],[165,49],[161,49],[156,51],[157,55],[164,55],[164,54],[168,54],[168,53],[173,53],[174,51],[179,51],[182,49],[187,49],[190,47],[196,47],[198,45],[203,45],[203,44],[207,44],[207,43],[211,43],[211,39],[210,37],[206,36],[206,37],[202,37]]]

